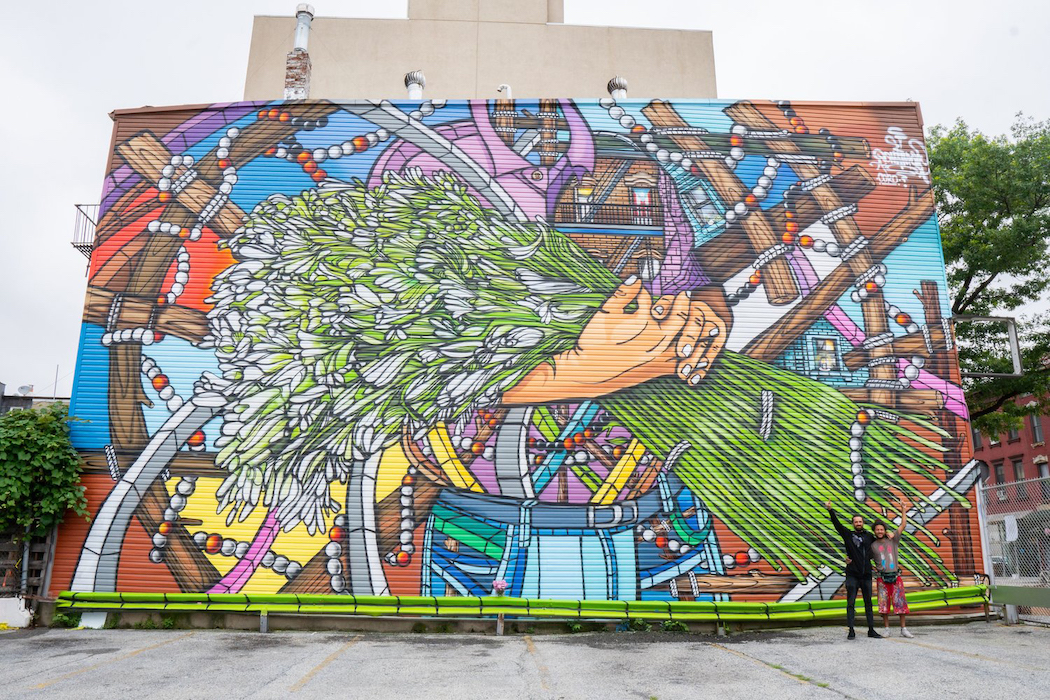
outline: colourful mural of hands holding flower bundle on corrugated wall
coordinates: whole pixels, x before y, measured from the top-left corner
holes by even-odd
[[[175,114],[118,116],[55,590],[812,599],[899,494],[974,573],[914,108]]]

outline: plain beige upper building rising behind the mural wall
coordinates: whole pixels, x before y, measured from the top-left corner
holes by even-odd
[[[319,16],[310,29],[310,98],[400,97],[404,75],[419,69],[428,98],[498,98],[501,83],[516,99],[596,98],[613,76],[635,94],[716,97],[710,31],[563,20],[563,0],[408,0],[407,19]],[[295,28],[291,15],[255,17],[246,100],[281,98]]]

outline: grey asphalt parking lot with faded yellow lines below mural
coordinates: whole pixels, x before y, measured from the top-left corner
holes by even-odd
[[[0,633],[0,698],[1050,697],[1050,629],[915,639],[839,628],[578,635],[28,630]]]

